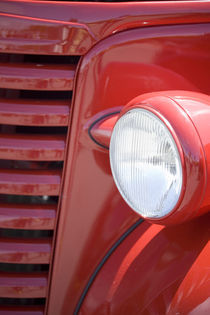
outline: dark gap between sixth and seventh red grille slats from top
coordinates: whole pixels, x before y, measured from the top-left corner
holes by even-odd
[[[20,272],[31,273],[49,271],[48,264],[17,264],[17,263],[0,263],[0,272]]]

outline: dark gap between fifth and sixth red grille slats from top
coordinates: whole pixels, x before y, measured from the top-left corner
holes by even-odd
[[[51,230],[15,230],[0,229],[0,238],[50,238],[53,236]]]

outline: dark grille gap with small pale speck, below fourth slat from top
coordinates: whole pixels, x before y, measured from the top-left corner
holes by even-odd
[[[32,204],[32,205],[56,205],[57,196],[25,196],[25,195],[0,195],[0,203]]]

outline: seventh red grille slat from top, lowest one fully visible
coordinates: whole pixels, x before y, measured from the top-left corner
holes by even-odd
[[[0,273],[0,296],[5,298],[42,298],[46,296],[46,273]]]

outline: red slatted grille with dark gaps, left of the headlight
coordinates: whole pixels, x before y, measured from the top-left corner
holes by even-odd
[[[78,61],[0,54],[0,314],[44,313]]]

